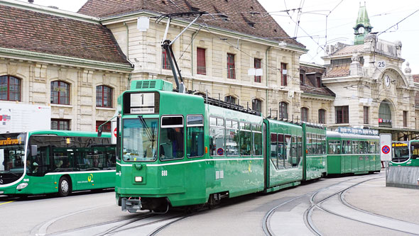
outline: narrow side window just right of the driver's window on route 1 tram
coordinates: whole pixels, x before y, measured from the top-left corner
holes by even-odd
[[[187,123],[187,157],[202,157],[204,155],[204,116],[190,115]]]

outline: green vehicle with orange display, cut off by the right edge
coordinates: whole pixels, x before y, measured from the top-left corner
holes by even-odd
[[[419,167],[419,140],[393,142],[391,166]]]

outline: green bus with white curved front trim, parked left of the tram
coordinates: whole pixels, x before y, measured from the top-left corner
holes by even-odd
[[[0,195],[113,188],[110,133],[40,130],[0,134]]]

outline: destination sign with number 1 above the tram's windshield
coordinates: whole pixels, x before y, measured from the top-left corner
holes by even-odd
[[[124,94],[125,114],[155,114],[158,113],[158,93],[126,93]]]

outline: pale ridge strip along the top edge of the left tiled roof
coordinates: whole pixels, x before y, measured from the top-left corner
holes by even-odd
[[[11,6],[18,9],[28,10],[28,11],[36,11],[38,13],[45,13],[52,16],[59,16],[63,18],[70,18],[76,21],[85,21],[87,23],[100,23],[100,18],[93,17],[93,16],[86,16],[80,13],[75,13],[71,11],[63,11],[60,9],[53,9],[48,6],[40,6],[36,4],[28,4],[22,1],[14,1],[14,0],[0,0],[0,5],[3,6]]]

